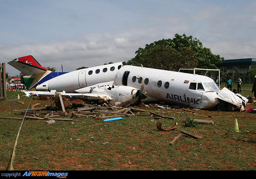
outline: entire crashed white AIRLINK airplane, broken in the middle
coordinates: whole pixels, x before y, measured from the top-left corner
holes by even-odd
[[[36,87],[37,91],[24,91],[27,96],[52,96],[58,91],[66,98],[108,102],[111,105],[128,106],[142,100],[197,109],[212,109],[221,103],[223,109],[224,103],[228,103],[240,110],[244,110],[248,101],[227,88],[220,90],[211,78],[203,75],[123,66],[121,62],[67,73],[53,73],[45,69],[31,55],[8,64],[23,73],[28,90]]]

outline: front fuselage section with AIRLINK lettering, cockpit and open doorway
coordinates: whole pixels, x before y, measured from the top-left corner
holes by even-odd
[[[115,82],[116,85],[137,89],[143,87],[148,95],[144,101],[165,101],[195,108],[217,105],[220,91],[217,84],[206,76],[139,66],[123,66],[116,75]]]

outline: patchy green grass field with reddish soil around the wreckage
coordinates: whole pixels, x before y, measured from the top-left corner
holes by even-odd
[[[252,95],[251,86],[242,86],[242,95]],[[14,102],[20,95],[20,101]],[[52,101],[27,98],[22,92],[8,91],[0,101],[0,116],[22,117],[13,110],[54,105]],[[255,104],[253,104],[255,107]],[[15,170],[255,170],[255,113],[143,107],[146,112],[122,120],[103,122],[95,118],[73,118],[70,121],[25,120],[20,131],[14,161]],[[174,117],[151,117],[149,111]],[[185,127],[186,119],[212,120],[214,125]],[[240,133],[233,133],[234,119]],[[178,123],[172,131],[158,130]],[[9,167],[21,120],[0,118],[0,170]],[[170,145],[180,130],[202,136],[183,135]]]

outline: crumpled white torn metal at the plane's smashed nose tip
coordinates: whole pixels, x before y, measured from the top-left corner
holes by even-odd
[[[248,99],[240,94],[236,95],[225,87],[218,93],[218,98],[222,101],[235,105],[236,107],[240,108],[241,111],[246,110],[245,107]]]

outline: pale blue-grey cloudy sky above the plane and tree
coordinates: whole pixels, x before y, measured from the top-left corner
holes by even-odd
[[[32,55],[65,72],[128,61],[175,34],[225,59],[256,58],[256,0],[0,0],[0,63]]]

